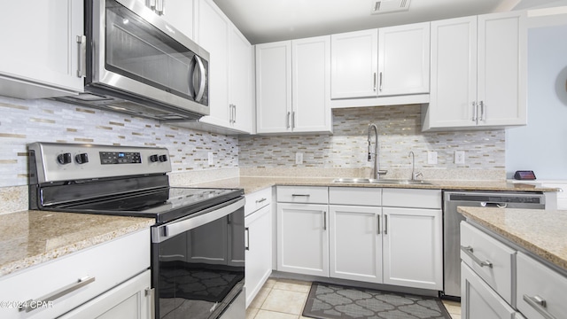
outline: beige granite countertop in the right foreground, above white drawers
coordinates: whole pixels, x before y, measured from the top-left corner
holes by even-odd
[[[457,211],[567,271],[567,211],[464,206]]]

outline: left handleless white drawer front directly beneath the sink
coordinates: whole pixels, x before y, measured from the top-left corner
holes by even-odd
[[[382,189],[330,187],[329,203],[337,205],[381,206]]]

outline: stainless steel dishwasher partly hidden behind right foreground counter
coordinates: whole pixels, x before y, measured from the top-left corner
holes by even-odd
[[[443,192],[443,276],[442,296],[461,297],[461,230],[464,220],[457,206],[545,209],[546,198],[540,192],[444,191]]]

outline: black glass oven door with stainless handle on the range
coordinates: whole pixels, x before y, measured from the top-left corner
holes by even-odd
[[[220,318],[244,300],[244,204],[237,198],[152,228],[156,318]]]

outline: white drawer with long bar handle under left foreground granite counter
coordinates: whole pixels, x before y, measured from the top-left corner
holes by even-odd
[[[72,253],[0,280],[0,300],[42,300],[80,278],[94,281],[30,312],[0,308],[2,318],[55,318],[150,267],[150,230],[142,230]]]

